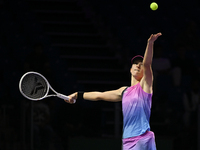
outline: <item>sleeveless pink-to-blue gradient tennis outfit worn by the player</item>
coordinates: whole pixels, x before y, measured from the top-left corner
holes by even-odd
[[[149,125],[151,103],[152,94],[144,92],[140,83],[123,92],[123,150],[156,150]]]

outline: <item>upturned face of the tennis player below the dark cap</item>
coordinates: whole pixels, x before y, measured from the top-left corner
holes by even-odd
[[[143,77],[143,62],[141,61],[135,61],[132,64],[132,67],[130,69],[131,75],[137,79],[141,79]]]

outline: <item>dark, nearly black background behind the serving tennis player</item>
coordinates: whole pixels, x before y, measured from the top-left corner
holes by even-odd
[[[151,2],[0,0],[0,150],[120,149],[121,103],[31,102],[18,83],[37,71],[66,95],[130,86],[130,60],[157,32],[151,130],[159,150],[196,150],[200,2]]]

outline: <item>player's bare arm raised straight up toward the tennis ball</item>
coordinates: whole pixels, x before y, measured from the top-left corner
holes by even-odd
[[[153,73],[151,68],[153,58],[153,45],[156,39],[161,35],[161,33],[152,34],[147,41],[147,47],[143,59],[144,75],[140,82],[143,90],[147,93],[152,93],[153,86]]]

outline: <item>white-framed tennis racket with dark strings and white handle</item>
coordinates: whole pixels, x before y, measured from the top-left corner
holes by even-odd
[[[54,94],[49,94],[49,88],[54,92]],[[51,96],[57,96],[61,99],[69,100],[68,96],[56,92],[47,79],[37,72],[25,73],[19,81],[19,90],[25,98],[33,101],[42,100]],[[74,100],[74,103],[75,102],[76,100]]]

